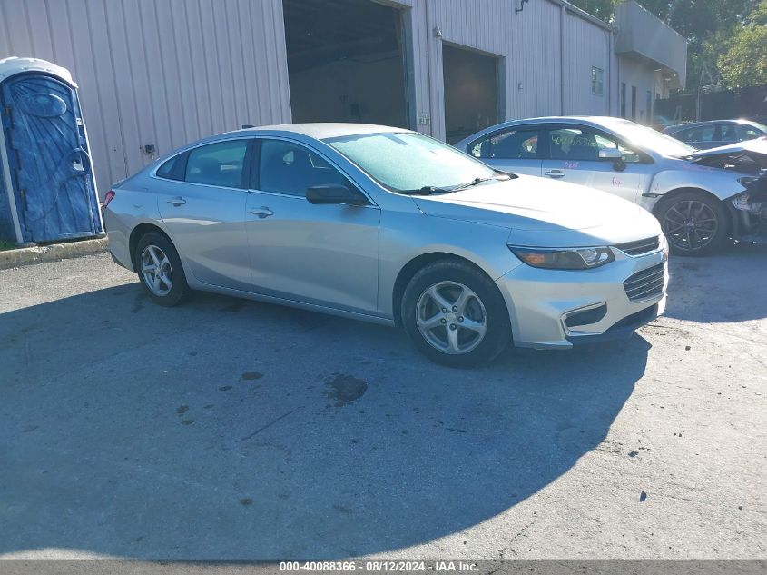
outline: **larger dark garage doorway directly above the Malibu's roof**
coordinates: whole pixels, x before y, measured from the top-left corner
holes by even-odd
[[[293,122],[408,127],[403,15],[362,0],[283,0]]]

